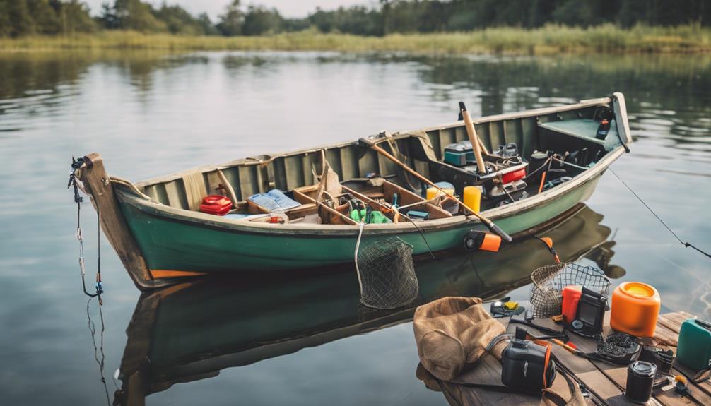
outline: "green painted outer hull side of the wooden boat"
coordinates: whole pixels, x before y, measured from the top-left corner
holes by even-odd
[[[525,212],[493,219],[508,234],[518,234],[555,219],[589,197],[599,176],[555,199]],[[121,199],[119,199],[121,202]],[[314,234],[264,234],[218,229],[197,222],[178,221],[150,214],[138,205],[121,203],[127,223],[151,270],[227,272],[235,270],[286,270],[314,268],[353,261],[355,237]],[[432,251],[459,247],[471,229],[486,229],[466,221],[447,229],[424,231]],[[417,231],[398,235],[413,246],[413,253],[428,248]],[[363,234],[362,245],[387,236]]]

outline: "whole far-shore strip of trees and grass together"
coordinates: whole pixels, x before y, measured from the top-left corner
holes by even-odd
[[[109,0],[92,11],[82,0],[0,0],[0,53],[711,54],[706,0],[362,0],[296,18],[246,0],[222,1],[213,21],[168,1]]]

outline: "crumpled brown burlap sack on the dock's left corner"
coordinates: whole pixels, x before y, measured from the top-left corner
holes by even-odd
[[[483,309],[479,297],[443,297],[417,307],[412,327],[419,361],[442,380],[456,378],[506,331]],[[500,358],[501,347],[497,351]]]

